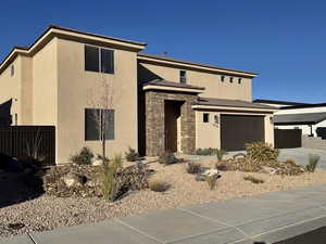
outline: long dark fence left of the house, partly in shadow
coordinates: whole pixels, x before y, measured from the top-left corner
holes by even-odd
[[[0,153],[24,157],[36,149],[45,157],[45,165],[55,165],[54,126],[0,127]]]

